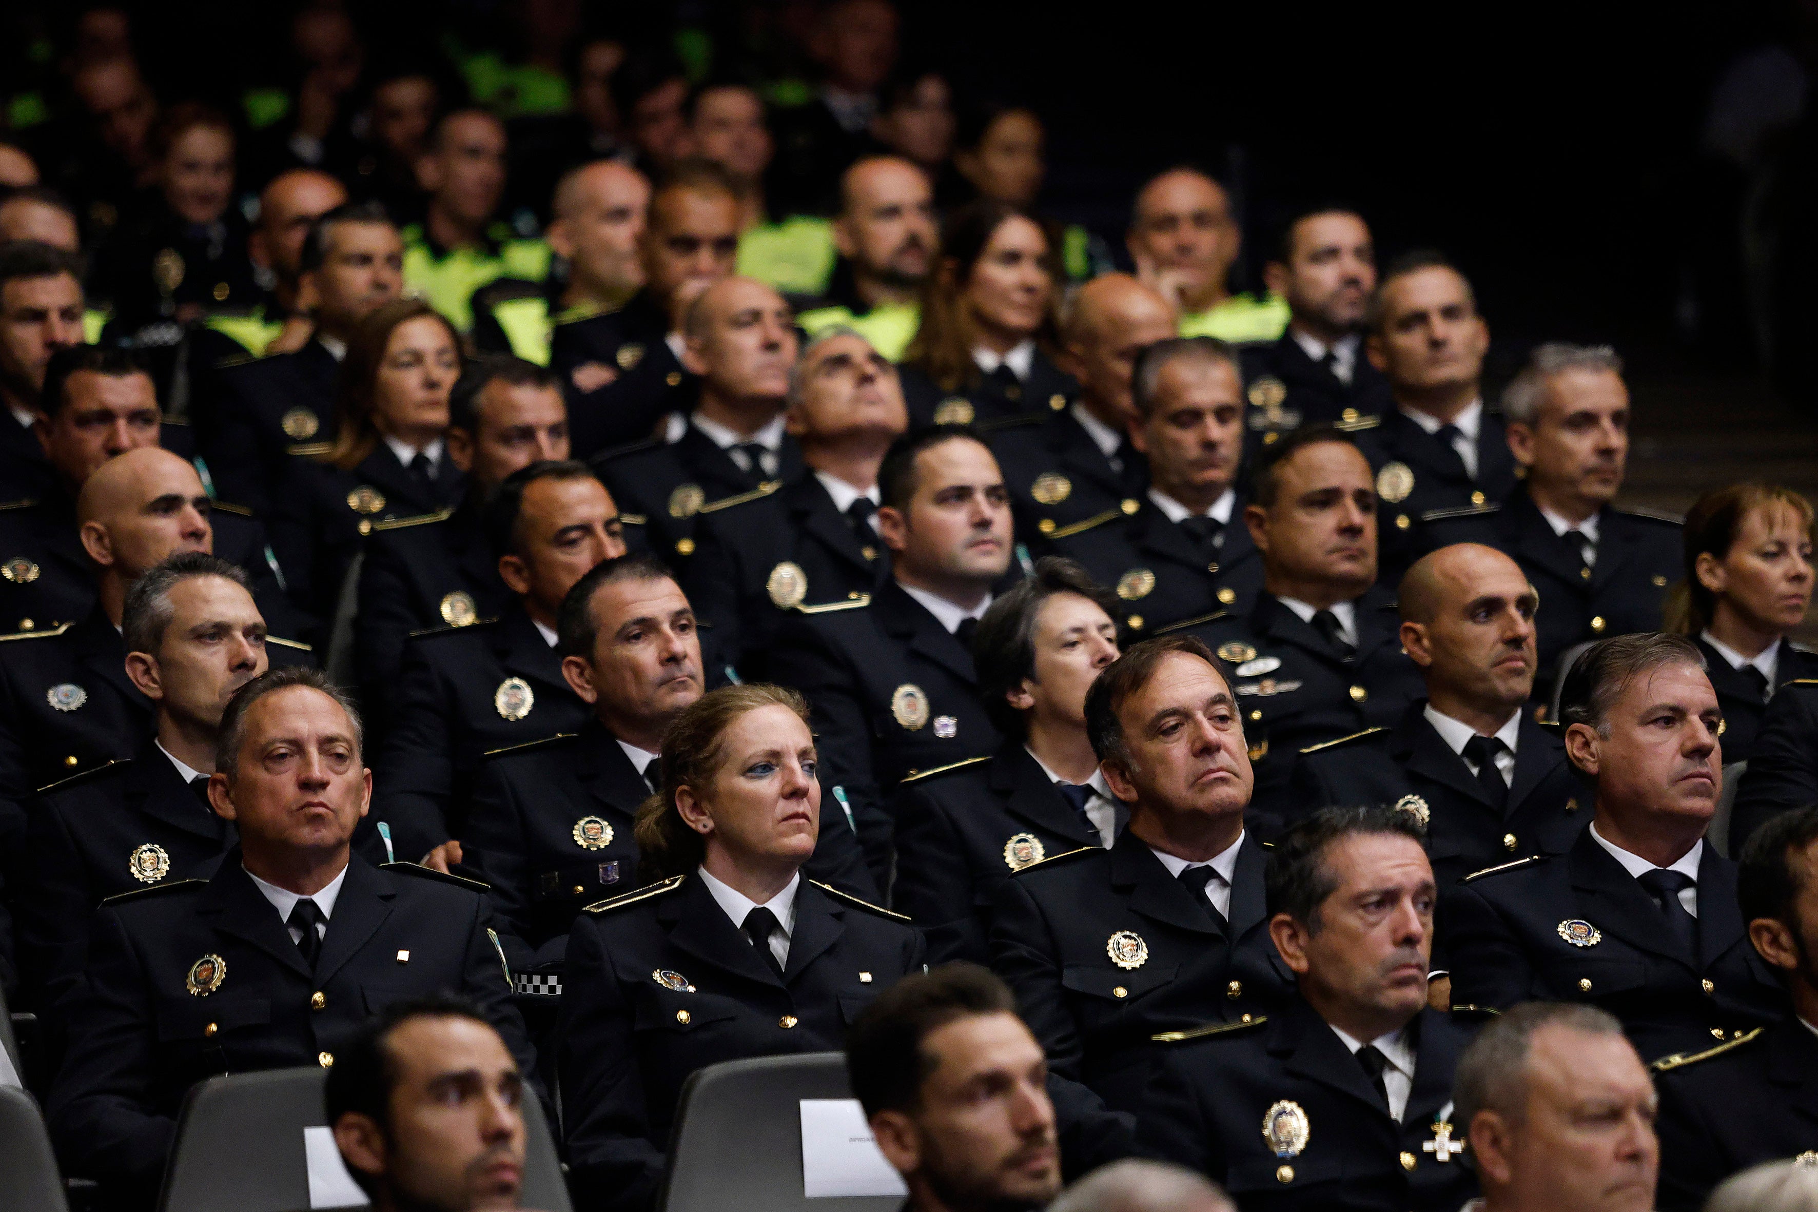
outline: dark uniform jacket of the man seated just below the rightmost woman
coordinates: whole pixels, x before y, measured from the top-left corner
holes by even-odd
[[[1680,950],[1660,907],[1589,829],[1565,854],[1445,890],[1438,929],[1454,1003],[1587,1001],[1622,1019],[1643,1061],[1698,1052],[1787,1012],[1785,990],[1749,943],[1736,865],[1709,845],[1698,859],[1698,954]]]

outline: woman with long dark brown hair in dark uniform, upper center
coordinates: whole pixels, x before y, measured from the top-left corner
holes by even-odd
[[[902,367],[909,423],[1064,409],[1078,383],[1051,356],[1058,294],[1060,267],[1042,224],[993,198],[954,211]]]

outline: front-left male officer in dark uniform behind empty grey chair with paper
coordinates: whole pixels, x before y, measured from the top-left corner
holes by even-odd
[[[282,752],[280,740],[295,747]],[[209,801],[240,847],[207,881],[102,907],[47,1121],[64,1168],[149,1207],[189,1087],[335,1063],[375,1010],[453,990],[529,1070],[480,885],[349,852],[365,809],[360,727],[318,672],[249,681],[222,714]],[[300,805],[324,807],[304,812]]]

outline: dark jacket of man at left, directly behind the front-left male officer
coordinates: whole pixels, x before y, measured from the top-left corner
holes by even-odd
[[[151,740],[133,758],[38,792],[15,889],[31,1008],[44,1014],[82,976],[96,905],[167,879],[205,879],[236,838]]]

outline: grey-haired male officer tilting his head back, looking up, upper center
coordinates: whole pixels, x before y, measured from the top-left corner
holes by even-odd
[[[807,469],[776,492],[700,516],[687,594],[744,676],[762,678],[785,611],[878,591],[878,463],[909,423],[896,369],[865,338],[827,329],[791,373],[785,427]]]

